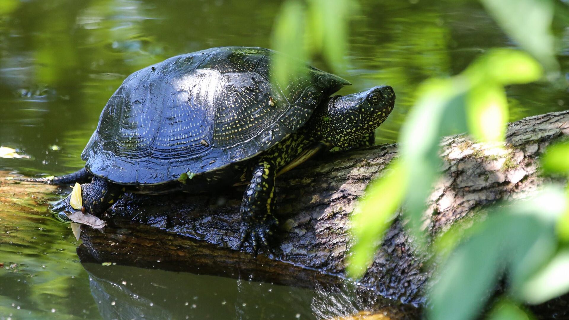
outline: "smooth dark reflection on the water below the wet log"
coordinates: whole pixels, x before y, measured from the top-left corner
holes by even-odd
[[[130,266],[83,265],[104,319],[329,319],[368,310],[377,300],[358,296],[349,283],[316,281],[313,291]],[[384,311],[381,319],[394,319],[389,317],[392,309]]]

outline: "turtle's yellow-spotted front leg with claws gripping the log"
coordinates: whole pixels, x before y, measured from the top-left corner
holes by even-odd
[[[257,256],[259,242],[268,251],[269,236],[273,234],[273,227],[278,220],[273,215],[275,203],[275,177],[277,166],[272,161],[262,160],[253,167],[253,177],[245,190],[241,202],[241,244],[245,242],[253,246],[253,253]]]

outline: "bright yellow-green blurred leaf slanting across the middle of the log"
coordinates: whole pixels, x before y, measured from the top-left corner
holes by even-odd
[[[391,162],[384,176],[373,182],[352,215],[356,243],[348,260],[348,274],[358,278],[373,259],[382,236],[401,205],[409,177],[397,160]]]

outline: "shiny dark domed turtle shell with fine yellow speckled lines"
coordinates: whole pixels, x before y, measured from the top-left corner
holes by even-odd
[[[273,55],[264,48],[211,48],[134,72],[101,113],[81,154],[86,169],[120,184],[216,170],[282,141],[323,97],[349,84],[308,65],[307,77],[271,83]]]

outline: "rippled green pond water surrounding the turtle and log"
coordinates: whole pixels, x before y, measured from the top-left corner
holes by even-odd
[[[0,158],[0,169],[63,174],[82,167],[79,155],[102,106],[139,68],[209,47],[270,46],[280,3],[244,3],[0,0],[0,145],[31,156]],[[423,80],[459,73],[489,48],[513,46],[476,1],[360,3],[351,24],[349,68],[340,75],[353,85],[340,93],[381,84],[394,88],[395,110],[378,129],[378,143],[397,140]],[[566,26],[567,20],[556,19],[563,73],[569,69]],[[321,61],[314,64],[325,68]],[[512,121],[569,104],[566,88],[548,82],[511,86],[508,94]],[[29,206],[35,207],[28,211]],[[0,211],[0,219],[0,319],[112,319],[137,310],[147,318],[172,319],[334,315],[319,311],[316,306],[323,303],[313,303],[318,290],[81,265],[68,225],[53,219],[44,205]]]

